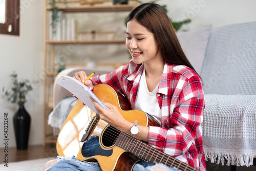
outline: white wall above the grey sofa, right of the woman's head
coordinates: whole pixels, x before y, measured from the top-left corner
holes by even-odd
[[[253,0],[161,0],[159,4],[167,5],[168,16],[174,21],[190,18],[192,22],[183,27],[185,30],[256,20],[256,1]]]

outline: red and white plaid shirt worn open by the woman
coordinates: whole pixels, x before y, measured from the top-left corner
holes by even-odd
[[[131,60],[126,66],[91,80],[94,85],[109,84],[123,93],[134,109],[143,67]],[[156,98],[161,109],[161,127],[150,126],[148,144],[206,170],[201,129],[205,102],[198,74],[186,66],[165,63]]]

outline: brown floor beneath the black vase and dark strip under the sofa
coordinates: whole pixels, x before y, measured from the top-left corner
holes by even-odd
[[[5,156],[3,148],[0,148],[0,156]],[[42,145],[29,146],[27,150],[17,150],[16,147],[8,148],[8,162],[17,162],[23,160],[32,160],[45,157],[57,156],[56,144],[47,144],[46,148]],[[0,164],[4,163],[4,160],[0,160]],[[207,171],[231,171],[230,166],[222,166],[207,162]],[[250,167],[237,167],[236,171],[255,171],[256,166]],[[235,171],[235,170],[233,170]]]

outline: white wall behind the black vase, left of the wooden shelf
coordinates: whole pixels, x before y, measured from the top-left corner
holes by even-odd
[[[19,36],[0,34],[0,139],[4,140],[4,113],[8,113],[8,139],[9,147],[16,146],[13,131],[13,115],[18,106],[7,101],[2,93],[3,86],[10,90],[11,79],[9,75],[16,71],[18,78],[33,80],[42,75],[44,65],[44,1],[20,1],[20,34]],[[31,116],[31,129],[29,144],[42,144],[42,111],[43,88],[33,85],[33,91],[28,94],[25,108]],[[0,143],[0,147],[4,147]]]

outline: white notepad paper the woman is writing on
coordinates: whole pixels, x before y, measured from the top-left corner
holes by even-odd
[[[109,110],[106,106],[99,100],[99,98],[87,87],[84,86],[80,81],[77,79],[70,77],[68,75],[61,75],[64,80],[60,80],[57,83],[71,92],[74,96],[76,96],[79,100],[81,100],[84,104],[86,104],[93,112],[97,113],[93,102],[89,98],[90,96],[99,103],[102,108]]]

